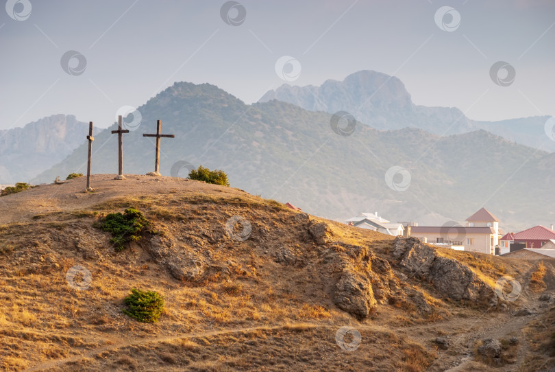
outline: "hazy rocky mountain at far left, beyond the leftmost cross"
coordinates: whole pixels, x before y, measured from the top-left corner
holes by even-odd
[[[0,130],[0,184],[29,181],[71,154],[87,133],[88,123],[62,114]]]

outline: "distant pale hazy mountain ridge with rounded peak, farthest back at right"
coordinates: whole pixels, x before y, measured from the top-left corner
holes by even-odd
[[[401,80],[376,71],[358,71],[341,82],[327,80],[321,86],[283,84],[260,98],[260,102],[270,100],[330,114],[347,111],[363,124],[380,130],[410,127],[452,135],[483,129],[532,148],[542,146],[542,150],[555,151],[555,142],[547,139],[543,128],[549,116],[474,121],[458,108],[414,104]]]

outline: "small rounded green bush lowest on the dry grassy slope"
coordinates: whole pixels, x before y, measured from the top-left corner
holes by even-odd
[[[154,291],[133,288],[123,300],[127,309],[123,313],[143,323],[156,323],[164,311],[164,297]]]

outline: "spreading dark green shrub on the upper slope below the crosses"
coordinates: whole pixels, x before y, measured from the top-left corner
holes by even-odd
[[[122,251],[127,242],[137,242],[144,233],[158,233],[153,230],[151,222],[143,216],[143,213],[134,208],[125,209],[123,214],[119,212],[108,214],[100,228],[112,233],[110,242],[116,245],[117,251]]]

